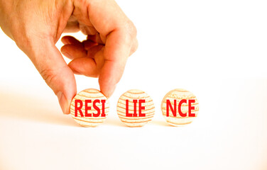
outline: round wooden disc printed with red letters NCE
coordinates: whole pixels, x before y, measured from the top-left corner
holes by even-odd
[[[174,89],[166,94],[161,102],[163,117],[173,126],[192,123],[197,117],[199,106],[197,98],[185,89]]]

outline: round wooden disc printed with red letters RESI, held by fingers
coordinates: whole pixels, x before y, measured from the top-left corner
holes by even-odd
[[[109,101],[97,89],[85,89],[72,99],[70,114],[84,127],[103,123],[109,113]]]

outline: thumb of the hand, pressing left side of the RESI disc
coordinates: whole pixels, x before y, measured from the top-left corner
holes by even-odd
[[[30,57],[46,84],[58,96],[62,112],[69,114],[70,103],[77,92],[74,74],[54,42],[35,44],[37,45],[30,45],[23,51],[26,51],[26,55]]]

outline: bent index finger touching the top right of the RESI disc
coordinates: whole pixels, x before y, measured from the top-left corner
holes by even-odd
[[[126,60],[136,42],[136,28],[113,0],[89,1],[87,9],[89,21],[105,42],[99,86],[102,93],[109,97],[121,79]]]

